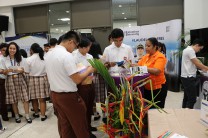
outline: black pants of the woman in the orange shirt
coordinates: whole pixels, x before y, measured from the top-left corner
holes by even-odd
[[[155,97],[154,102],[158,102],[156,105],[159,106],[160,108],[164,108],[165,107],[165,99],[167,97],[167,84],[163,84],[161,89],[156,89],[153,90],[153,98],[157,95],[157,97]],[[151,90],[146,90],[144,89],[144,98],[151,101],[152,100],[152,94],[151,94]],[[155,108],[154,106],[151,107]]]

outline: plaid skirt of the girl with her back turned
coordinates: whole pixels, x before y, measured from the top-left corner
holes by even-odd
[[[49,97],[50,88],[47,76],[30,76],[28,91],[30,99]]]

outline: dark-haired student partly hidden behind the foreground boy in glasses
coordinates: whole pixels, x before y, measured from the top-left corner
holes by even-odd
[[[90,63],[87,61],[88,59],[93,59],[92,55],[88,54],[91,42],[87,38],[82,38],[79,45],[78,45],[78,51],[74,54],[75,62],[76,64],[83,64],[85,67],[91,66]],[[93,76],[88,77],[88,81],[84,81],[80,83],[78,88],[78,93],[82,97],[82,99],[85,102],[85,105],[87,107],[87,121],[88,121],[88,127],[89,132],[96,131],[97,128],[91,126],[91,116],[93,114],[93,104],[95,100],[95,90],[94,90],[94,84],[92,83]],[[91,133],[91,136],[94,135]],[[95,136],[94,136],[95,137]]]

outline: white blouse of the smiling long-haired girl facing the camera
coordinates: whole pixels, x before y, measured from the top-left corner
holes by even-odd
[[[15,59],[11,60],[9,56],[3,58],[2,60],[3,69],[11,69],[12,66],[22,67],[25,70],[25,59],[22,57],[22,61],[20,63],[17,63]],[[13,73],[13,72],[8,73],[8,75],[13,75],[13,74],[18,74],[18,73]]]

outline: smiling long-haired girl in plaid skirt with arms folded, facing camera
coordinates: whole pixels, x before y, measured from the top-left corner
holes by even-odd
[[[25,82],[24,60],[19,53],[19,46],[11,42],[6,49],[5,58],[2,61],[4,74],[7,75],[5,81],[6,89],[6,104],[12,104],[15,113],[16,123],[20,123],[18,101],[21,100],[24,104],[25,117],[28,123],[32,123],[29,117],[29,96],[27,92],[27,84]]]

